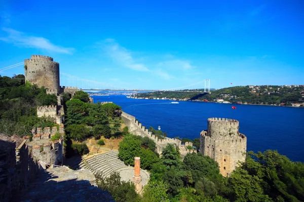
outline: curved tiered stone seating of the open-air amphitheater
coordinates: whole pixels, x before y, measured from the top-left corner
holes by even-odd
[[[79,168],[88,169],[94,174],[102,173],[104,176],[109,176],[115,171],[127,167],[123,161],[118,159],[118,151],[109,151],[104,154],[97,154],[84,159]]]

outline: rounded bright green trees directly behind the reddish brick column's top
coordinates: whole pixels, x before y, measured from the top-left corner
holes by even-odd
[[[126,134],[123,141],[119,143],[119,147],[118,156],[126,165],[134,166],[134,157],[140,157],[141,168],[149,170],[159,161],[155,153],[155,142],[151,139]]]

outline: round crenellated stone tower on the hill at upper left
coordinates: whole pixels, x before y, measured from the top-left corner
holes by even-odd
[[[39,87],[44,86],[55,94],[60,91],[59,63],[48,56],[32,55],[24,60],[25,80]]]

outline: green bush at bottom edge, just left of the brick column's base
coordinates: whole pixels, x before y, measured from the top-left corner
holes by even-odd
[[[108,190],[117,202],[139,202],[139,195],[135,192],[132,182],[121,181],[120,174],[112,173],[109,177],[100,174],[95,175],[97,186],[103,190]]]

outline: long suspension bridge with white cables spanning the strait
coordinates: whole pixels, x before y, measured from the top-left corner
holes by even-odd
[[[20,68],[21,66],[24,66],[24,62],[1,68],[0,72],[4,72],[12,68]],[[205,79],[189,85],[170,88],[170,89],[141,89],[141,88],[134,89],[134,88],[116,86],[105,82],[98,82],[85,78],[80,78],[64,72],[60,72],[59,75],[60,75],[61,86],[74,86],[74,87],[78,87],[78,90],[84,90],[84,91],[153,91],[153,92],[172,91],[172,92],[205,92],[205,93],[210,92],[210,79]],[[204,83],[204,88],[202,86],[203,83]]]

